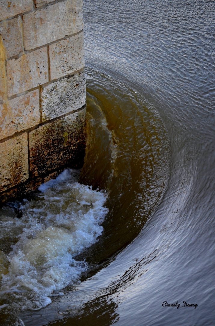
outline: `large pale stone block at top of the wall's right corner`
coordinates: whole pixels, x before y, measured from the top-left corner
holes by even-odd
[[[31,50],[83,29],[82,0],[66,0],[23,15],[24,47]]]

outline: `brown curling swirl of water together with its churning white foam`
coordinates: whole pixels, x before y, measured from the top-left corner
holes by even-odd
[[[107,266],[162,197],[169,146],[158,112],[131,88],[93,69],[87,72],[86,135],[81,171],[65,170],[31,200],[2,209],[0,246],[8,254],[1,280],[4,315],[41,309],[86,272]]]

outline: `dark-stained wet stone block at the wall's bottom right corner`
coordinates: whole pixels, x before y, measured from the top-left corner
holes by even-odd
[[[47,123],[29,133],[30,172],[44,174],[83,163],[85,109]]]

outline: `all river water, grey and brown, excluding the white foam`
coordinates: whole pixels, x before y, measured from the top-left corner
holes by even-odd
[[[83,10],[81,181],[106,188],[109,211],[99,241],[77,257],[90,266],[82,282],[20,317],[214,325],[215,2],[95,0]]]

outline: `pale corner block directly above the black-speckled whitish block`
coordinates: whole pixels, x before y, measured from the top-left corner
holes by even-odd
[[[83,32],[49,46],[51,80],[84,67]]]

